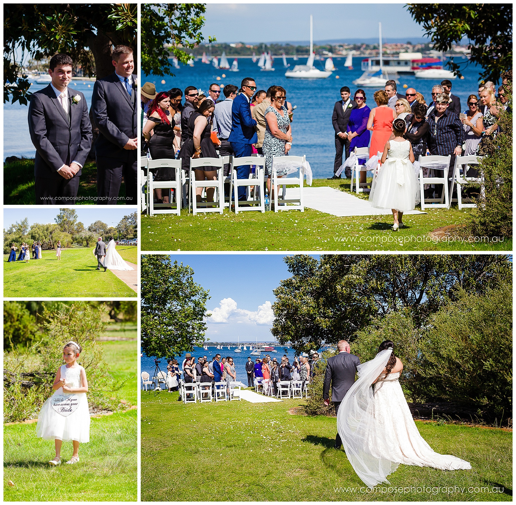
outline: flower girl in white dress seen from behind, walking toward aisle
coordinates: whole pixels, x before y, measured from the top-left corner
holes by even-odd
[[[394,225],[403,226],[401,218],[407,210],[414,210],[417,181],[412,164],[412,144],[403,138],[406,123],[395,119],[392,124],[394,139],[385,144],[382,166],[369,194],[369,202],[376,208],[392,209]]]

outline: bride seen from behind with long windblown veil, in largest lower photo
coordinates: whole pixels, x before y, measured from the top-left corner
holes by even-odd
[[[386,477],[400,463],[471,469],[467,461],[435,452],[417,430],[398,381],[403,364],[393,349],[386,340],[373,360],[359,365],[359,379],[338,409],[337,430],[351,466],[368,487],[389,483]]]

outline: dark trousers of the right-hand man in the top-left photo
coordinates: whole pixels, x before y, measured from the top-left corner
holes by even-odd
[[[138,194],[138,161],[122,161],[118,158],[96,156],[97,196],[102,198],[99,205],[116,205],[118,193],[125,182],[125,203],[136,205]]]

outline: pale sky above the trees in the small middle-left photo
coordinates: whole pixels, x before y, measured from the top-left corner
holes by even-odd
[[[124,207],[103,209],[93,205],[85,205],[84,207],[75,207],[75,212],[78,216],[78,221],[82,222],[87,228],[91,223],[97,220],[101,220],[106,224],[115,226],[119,223],[124,216],[127,216],[134,212],[133,208]],[[58,208],[4,208],[4,230],[7,230],[9,226],[15,222],[20,222],[24,218],[29,220],[29,224],[39,223],[55,224],[55,218],[59,214]],[[115,224],[113,224],[115,223]]]

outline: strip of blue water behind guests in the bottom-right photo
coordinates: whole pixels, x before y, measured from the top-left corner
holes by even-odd
[[[267,346],[270,344],[267,344]],[[249,346],[247,347],[247,351],[242,350],[242,352],[235,352],[235,345],[231,346],[231,349],[228,349],[228,346],[224,346],[223,349],[217,349],[216,346],[208,346],[208,350],[206,351],[202,347],[194,347],[193,351],[190,353],[193,357],[196,358],[196,363],[198,362],[199,357],[207,356],[208,360],[213,359],[217,353],[219,353],[222,357],[231,356],[233,358],[233,363],[235,364],[235,371],[236,371],[236,380],[242,381],[244,384],[247,385],[247,372],[246,372],[246,363],[247,363],[247,357],[251,356],[249,351]],[[276,353],[272,352],[262,352],[260,355],[260,358],[263,359],[266,354],[269,354],[271,359],[276,358],[278,360],[278,363],[281,363],[281,358],[283,354],[286,354],[288,356],[288,360],[292,364],[294,361],[294,357],[296,355],[294,349],[288,349],[281,346],[276,347]],[[179,363],[179,368],[181,369],[181,365],[183,363],[183,360],[185,359],[185,354],[183,353],[182,356],[176,356],[176,359]],[[251,359],[254,363],[256,363],[256,357],[258,356],[251,356]],[[155,365],[154,365],[154,357],[153,356],[147,356],[147,354],[143,353],[143,355],[140,357],[141,361],[141,371],[142,372],[148,372],[150,376],[152,377],[152,374],[154,373]],[[165,358],[162,358],[159,360],[161,363],[159,364],[159,368],[166,372],[167,371],[167,360]],[[141,386],[141,382],[140,382]]]

